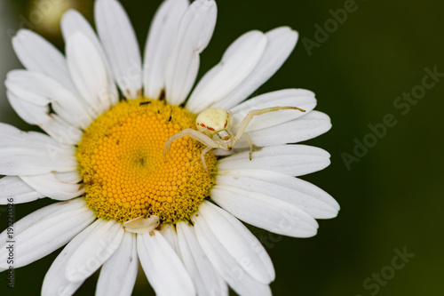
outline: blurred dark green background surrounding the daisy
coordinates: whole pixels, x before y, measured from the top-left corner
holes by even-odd
[[[52,2],[77,5],[91,19],[91,1]],[[161,1],[122,2],[143,46]],[[404,115],[404,108],[393,106],[400,103],[397,98],[403,92],[421,90],[417,85],[423,84],[424,68],[436,67],[444,73],[444,3],[350,3],[218,1],[218,24],[209,47],[202,53],[200,76],[245,31],[287,25],[300,34],[297,49],[258,93],[291,87],[309,89],[316,93],[317,109],[331,117],[332,130],[308,144],[328,150],[332,164],[304,179],[337,199],[341,204],[338,217],[321,220],[319,234],[309,239],[254,230],[274,261],[274,295],[444,295],[444,77],[425,93],[417,94],[424,98],[409,103],[411,108]],[[346,20],[334,20],[333,12],[345,8],[350,11]],[[28,0],[1,0],[1,81],[9,70],[21,67],[8,33],[17,31],[33,9],[36,8]],[[326,21],[330,26],[328,36],[321,36],[319,27],[324,28]],[[58,29],[54,30],[53,25],[48,25],[52,29],[44,28],[43,22],[33,29],[63,49]],[[387,114],[397,124],[387,127],[385,136],[371,143],[376,138],[370,135],[369,124],[380,126]],[[0,121],[23,130],[36,129],[13,113],[3,84]],[[355,140],[362,142],[364,138],[372,147],[364,156],[353,158],[347,167],[344,153],[353,156]],[[15,218],[50,203],[41,200],[16,205]],[[3,214],[0,228],[4,229],[5,224]],[[402,252],[404,248],[415,257],[399,270],[393,269],[394,250]],[[0,294],[39,294],[44,274],[58,253],[16,269],[13,291],[5,287],[6,275],[0,274]],[[378,282],[373,276],[381,272]],[[97,276],[91,276],[77,294],[92,295]],[[141,275],[134,295],[147,292],[153,294]]]

